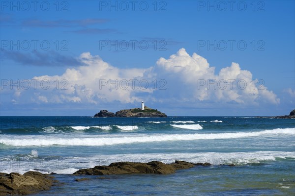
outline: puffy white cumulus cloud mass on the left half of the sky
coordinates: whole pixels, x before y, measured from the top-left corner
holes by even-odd
[[[118,69],[104,62],[99,56],[92,56],[84,52],[79,57],[84,66],[66,69],[62,75],[36,76],[32,79],[37,81],[56,81],[54,85],[45,91],[59,95],[52,100],[61,102],[89,102],[121,101],[129,103],[139,101],[135,93],[150,91],[141,89],[139,86],[132,89],[132,81],[143,78],[148,69]],[[135,85],[134,85],[135,86]]]

